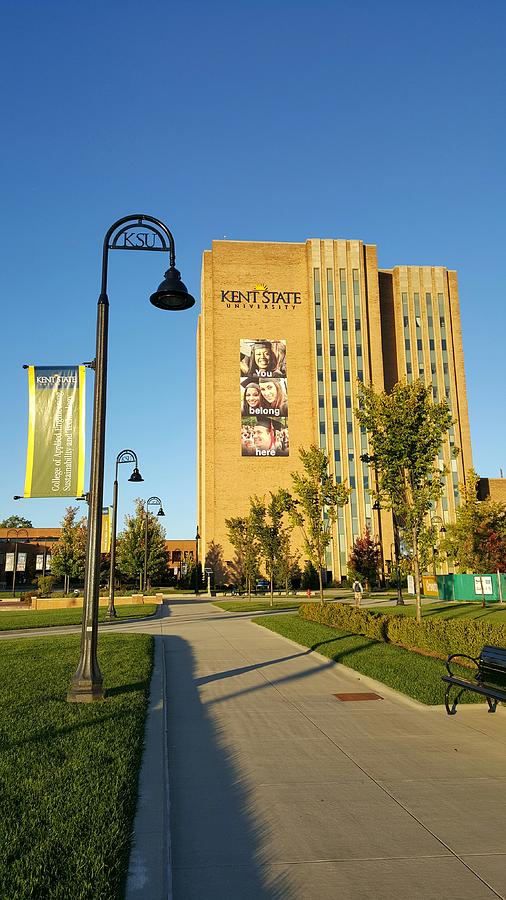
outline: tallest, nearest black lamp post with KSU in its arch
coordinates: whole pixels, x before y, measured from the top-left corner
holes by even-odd
[[[169,253],[169,268],[150,302],[159,309],[184,310],[194,305],[175,267],[174,238],[159,219],[137,213],[124,216],[111,225],[104,237],[102,283],[97,309],[95,354],[95,391],[91,444],[90,504],[86,544],[81,654],[72,678],[67,700],[88,703],[104,696],[102,673],[97,660],[98,595],[100,587],[100,537],[104,492],[105,409],[107,397],[107,334],[109,298],[107,268],[109,250],[146,250]]]

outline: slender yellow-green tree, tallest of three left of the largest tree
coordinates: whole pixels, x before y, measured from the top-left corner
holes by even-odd
[[[318,572],[323,604],[322,570],[332,539],[331,525],[338,508],[348,502],[349,489],[329,475],[327,454],[316,444],[308,450],[301,447],[299,456],[304,471],[292,472],[293,496],[288,510],[292,523],[302,531],[306,554]]]

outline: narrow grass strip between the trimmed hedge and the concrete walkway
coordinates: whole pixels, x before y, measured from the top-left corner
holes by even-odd
[[[362,635],[338,631],[317,622],[308,622],[297,615],[262,616],[253,621],[421,703],[433,705],[444,702],[445,685],[441,675],[446,669],[440,659],[422,656]],[[465,678],[469,677],[468,669],[453,668]],[[466,692],[460,702],[477,703],[480,699],[478,695]]]

